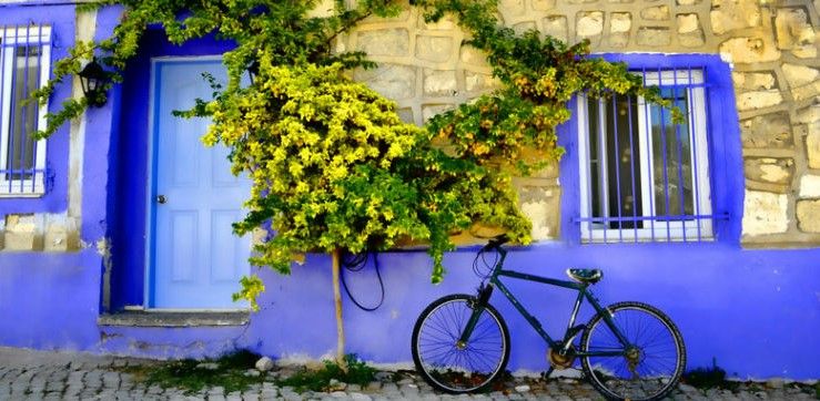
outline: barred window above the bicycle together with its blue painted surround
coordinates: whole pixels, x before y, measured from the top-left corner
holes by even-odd
[[[713,55],[605,55],[626,62],[686,115],[639,97],[580,95],[564,145],[569,233],[581,243],[738,237],[742,162],[728,64]],[[725,172],[731,174],[727,175]],[[571,183],[571,184],[570,184]],[[566,196],[565,196],[566,198]]]

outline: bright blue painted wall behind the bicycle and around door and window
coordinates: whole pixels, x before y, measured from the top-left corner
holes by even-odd
[[[110,30],[118,16],[119,10],[107,9],[99,21]],[[143,42],[146,51],[130,64],[124,84],[112,92],[105,107],[89,113],[82,235],[88,244],[111,238],[114,310],[143,304],[150,58],[217,54],[230,48],[212,39],[174,47],[160,32],[149,32]],[[684,333],[690,368],[710,366],[717,358],[719,366],[740,378],[818,378],[820,248],[747,250],[739,245],[743,183],[728,66],[716,56],[630,55],[629,61],[656,65],[696,59],[719,75],[712,107],[720,113],[713,115],[711,132],[719,135],[712,152],[720,152],[721,157],[712,194],[718,199],[716,212],[728,214],[729,219],[718,225],[718,239],[580,245],[577,224],[571,222],[578,208],[578,189],[573,184],[578,182],[578,161],[570,124],[560,133],[567,148],[560,179],[561,238],[515,248],[508,266],[549,277],[561,277],[567,267],[604,269],[605,279],[595,286],[601,301],[641,300],[667,311]],[[58,203],[57,210],[64,209],[64,200],[59,202],[63,204]],[[39,206],[32,207],[36,212]],[[0,214],[9,212],[0,209]],[[431,261],[423,251],[381,255],[385,302],[365,312],[345,299],[347,350],[376,362],[408,363],[411,330],[421,310],[439,296],[472,292],[478,284],[470,268],[474,251],[465,248],[448,254],[445,266],[449,271],[439,286],[429,285]],[[202,357],[235,348],[274,357],[316,358],[335,349],[326,256],[308,256],[305,266],[294,267],[292,277],[263,270],[267,291],[261,299],[262,311],[252,316],[247,327],[230,328],[99,327],[102,269],[103,258],[93,247],[73,254],[0,253],[0,345],[160,358]],[[347,278],[363,302],[377,300],[372,268]],[[550,333],[563,330],[571,291],[523,282],[510,287],[522,294],[523,302]],[[499,294],[493,302],[510,327],[510,367],[545,370],[545,345]],[[584,318],[588,316],[587,310]]]

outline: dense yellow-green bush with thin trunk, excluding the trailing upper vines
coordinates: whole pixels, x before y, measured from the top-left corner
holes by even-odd
[[[295,254],[315,250],[332,255],[337,275],[343,250],[414,239],[432,244],[437,280],[453,229],[493,222],[526,240],[515,193],[490,183],[503,175],[433,147],[428,131],[403,123],[393,102],[342,69],[263,59],[253,85],[203,105],[213,119],[204,142],[233,148],[234,173],[253,182],[235,230],[270,224],[276,233],[256,245],[254,265],[288,273]],[[249,279],[237,298],[254,302],[260,286]]]

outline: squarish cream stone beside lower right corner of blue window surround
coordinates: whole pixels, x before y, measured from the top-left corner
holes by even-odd
[[[789,199],[784,194],[747,189],[743,199],[743,236],[786,233],[789,229],[788,205]]]

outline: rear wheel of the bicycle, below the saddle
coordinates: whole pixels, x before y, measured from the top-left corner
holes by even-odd
[[[621,343],[601,315],[589,320],[580,350],[593,353],[581,358],[591,384],[616,400],[658,400],[669,394],[686,368],[678,328],[646,304],[619,302],[607,310],[629,346]]]

